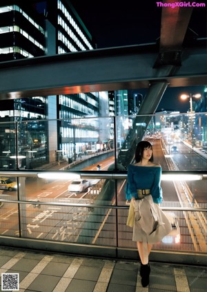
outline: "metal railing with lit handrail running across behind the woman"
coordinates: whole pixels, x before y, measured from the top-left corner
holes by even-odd
[[[163,177],[171,171],[164,171]],[[180,177],[182,171],[172,171],[173,175]],[[186,174],[186,171],[183,171]],[[100,200],[98,196],[90,196],[91,189],[86,192],[84,198],[32,198],[23,194],[24,186],[22,178],[37,178],[39,174],[78,174],[81,178],[99,178],[105,183],[110,183],[111,189],[115,187],[115,194],[111,200]],[[171,173],[172,174],[172,173]],[[206,171],[189,171],[190,175],[199,175],[201,180],[206,180]],[[132,230],[126,226],[128,205],[126,201],[119,199],[120,185],[127,178],[126,171],[116,173],[112,171],[0,171],[0,176],[17,178],[20,183],[17,196],[2,198],[0,203],[1,227],[0,238],[3,244],[22,244],[41,248],[46,242],[54,244],[72,244],[73,249],[86,249],[90,255],[100,249],[101,253],[108,253],[110,249],[116,251],[116,257],[122,257],[124,249],[135,252],[136,245],[132,242]],[[56,180],[58,183],[59,180]],[[54,182],[55,183],[55,182]],[[103,187],[104,185],[102,185]],[[168,251],[181,253],[206,253],[206,227],[207,227],[207,203],[190,205],[187,202],[164,202],[161,209],[166,213],[175,214],[179,226],[181,241],[175,242],[177,234],[166,238],[163,242],[154,245],[156,252]],[[186,215],[187,214],[187,215]],[[195,220],[201,220],[201,224],[195,225]],[[176,227],[176,228],[177,228]],[[20,240],[18,242],[18,240]],[[30,242],[30,243],[29,243]],[[71,247],[71,245],[70,245]],[[75,248],[76,247],[76,248]],[[89,249],[88,249],[89,248]],[[93,249],[94,248],[94,249]],[[54,249],[54,246],[51,247]],[[99,252],[100,252],[99,250]],[[72,252],[70,250],[70,252]],[[83,250],[81,251],[82,253]],[[127,253],[128,253],[127,252]],[[126,253],[126,254],[127,254]],[[114,253],[112,253],[114,254]],[[101,255],[101,254],[100,254]],[[156,253],[155,253],[156,255]],[[110,255],[115,256],[115,255]],[[135,255],[126,255],[128,258]]]

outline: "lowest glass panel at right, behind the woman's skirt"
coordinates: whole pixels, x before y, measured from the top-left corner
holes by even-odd
[[[124,202],[123,202],[124,205]],[[192,207],[184,202],[163,202],[161,207]],[[197,204],[206,208],[206,204]],[[172,231],[153,249],[168,251],[206,252],[206,222],[207,213],[199,211],[164,211],[170,218]],[[119,247],[137,249],[137,242],[132,241],[132,228],[126,226],[128,211],[118,210]]]

